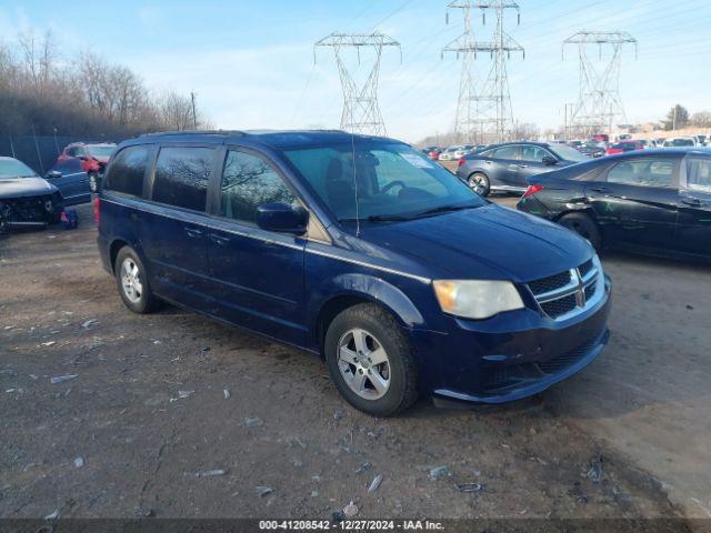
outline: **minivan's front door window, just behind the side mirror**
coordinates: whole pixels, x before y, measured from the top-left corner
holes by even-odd
[[[262,203],[297,204],[297,197],[262,158],[230,150],[220,183],[220,214],[254,223]]]

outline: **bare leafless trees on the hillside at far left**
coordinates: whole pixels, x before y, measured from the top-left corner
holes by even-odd
[[[60,54],[51,32],[0,43],[0,134],[122,139],[210,128],[190,94],[153,93],[129,68]]]

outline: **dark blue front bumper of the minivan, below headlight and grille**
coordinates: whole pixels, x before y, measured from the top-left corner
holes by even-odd
[[[521,310],[488,321],[451,318],[447,333],[412,330],[427,376],[423,388],[435,403],[495,404],[531,396],[575,374],[610,338],[610,286],[605,275],[598,304],[563,323]]]

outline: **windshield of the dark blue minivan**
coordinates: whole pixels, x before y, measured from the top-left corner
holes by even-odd
[[[354,138],[353,143],[283,153],[342,222],[408,220],[487,203],[451,172],[401,143]]]

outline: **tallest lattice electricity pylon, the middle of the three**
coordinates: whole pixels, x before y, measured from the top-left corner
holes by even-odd
[[[505,60],[511,57],[511,52],[524,53],[524,51],[523,47],[503,31],[503,17],[507,9],[515,9],[520,22],[519,6],[504,0],[454,0],[447,7],[461,9],[464,17],[464,33],[442,49],[442,53],[454,52],[458,57],[463,56],[454,130],[467,142],[509,140],[513,133],[513,112]],[[481,42],[473,39],[472,9],[482,11],[484,24],[487,11],[494,10],[497,26],[491,41]],[[489,52],[492,60],[489,76],[479,91],[475,89],[473,73],[473,60],[477,59],[478,52]],[[472,134],[474,131],[477,133]]]

